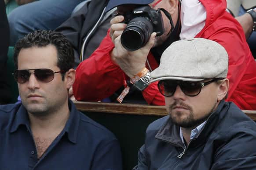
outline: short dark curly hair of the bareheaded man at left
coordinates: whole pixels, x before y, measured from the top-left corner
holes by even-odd
[[[21,49],[33,46],[43,47],[49,44],[57,49],[57,66],[64,72],[62,73],[62,80],[64,80],[66,71],[74,67],[74,51],[71,43],[60,32],[37,30],[19,39],[14,48],[15,67],[18,68],[18,54]]]

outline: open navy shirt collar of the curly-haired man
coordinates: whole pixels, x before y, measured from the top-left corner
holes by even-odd
[[[67,133],[67,136],[70,142],[76,143],[78,127],[80,122],[80,114],[78,114],[76,106],[70,99],[69,99],[69,110],[70,110],[69,119],[67,120],[66,125],[62,132]],[[28,112],[23,105],[19,107],[17,113],[14,114],[14,117],[12,120],[11,120],[12,123],[11,123],[10,133],[17,131],[20,125],[25,125],[26,128],[30,131]]]

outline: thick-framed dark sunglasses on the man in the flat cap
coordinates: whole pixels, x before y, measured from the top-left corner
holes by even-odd
[[[212,79],[206,82],[200,81],[177,81],[177,80],[161,80],[158,82],[157,86],[162,95],[166,97],[173,96],[176,91],[177,85],[179,85],[182,92],[187,96],[197,96],[202,87],[208,85],[214,81],[219,80],[219,78]]]

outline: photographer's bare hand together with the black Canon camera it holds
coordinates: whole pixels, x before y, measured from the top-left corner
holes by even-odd
[[[133,77],[145,67],[155,36],[164,32],[161,12],[143,5],[124,16],[114,17],[110,24],[110,37],[115,44],[112,60]]]

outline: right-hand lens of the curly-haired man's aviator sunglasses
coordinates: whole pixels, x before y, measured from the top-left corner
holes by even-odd
[[[54,72],[50,69],[36,69],[35,76],[37,80],[48,83],[53,80]]]

